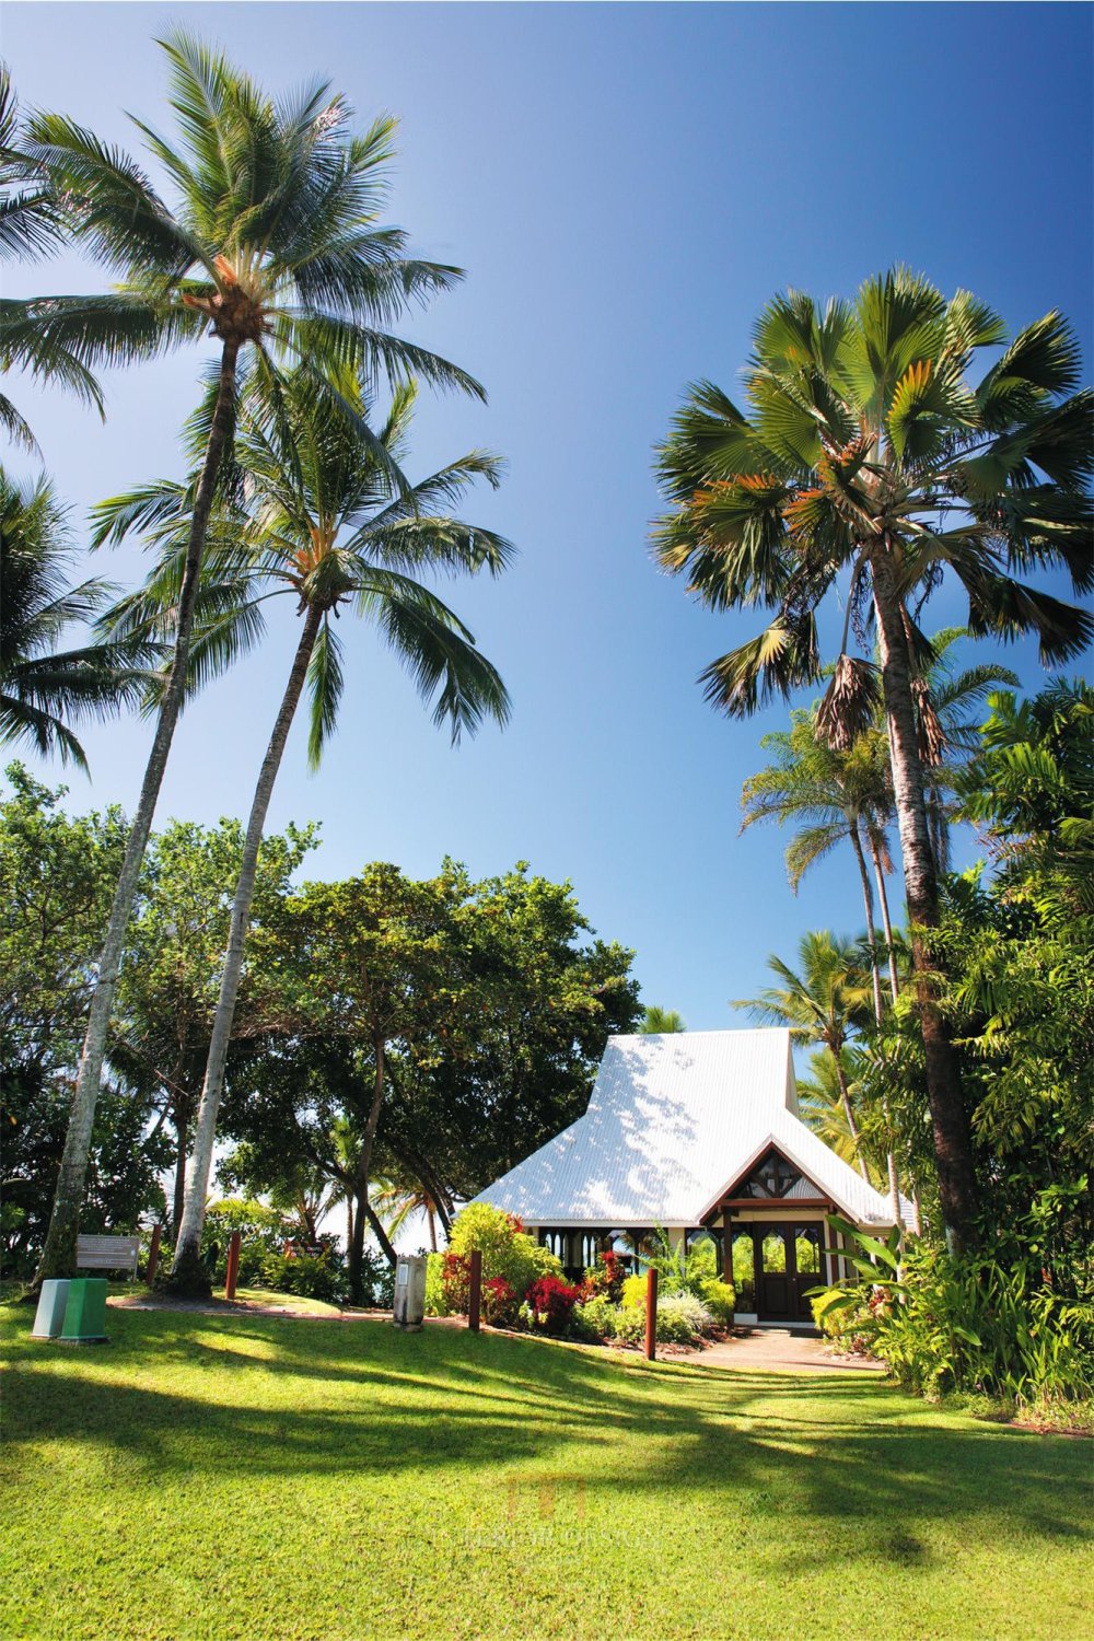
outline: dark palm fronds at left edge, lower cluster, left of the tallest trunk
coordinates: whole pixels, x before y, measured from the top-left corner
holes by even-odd
[[[64,507],[44,476],[20,484],[0,468],[0,742],[25,742],[87,770],[69,727],[139,701],[141,660],[153,645],[82,643],[59,650],[72,624],[90,622],[110,599],[105,581],[71,587],[72,548]]]

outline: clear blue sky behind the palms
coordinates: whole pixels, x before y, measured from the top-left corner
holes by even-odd
[[[290,745],[272,825],[318,819],[313,875],[443,853],[490,873],[526,858],[572,878],[604,935],[636,947],[648,1001],[730,1026],[807,927],[853,932],[853,866],[797,901],[784,839],[738,837],[740,786],[781,709],[730,724],[695,674],[745,637],[656,573],[651,445],[684,384],[730,391],[750,325],[787,284],[851,294],[905,261],[963,284],[1012,327],[1063,309],[1091,358],[1091,10],[1086,5],[8,5],[3,53],[25,103],[130,143],[120,113],[166,123],[151,38],[172,20],[271,89],[315,72],[362,117],[402,120],[392,218],[467,282],[413,333],[472,369],[489,405],[430,404],[417,466],[472,445],[510,474],[471,517],[522,556],[453,587],[515,704],[458,752],[366,629],[346,630],[341,734],[318,776]],[[10,290],[95,289],[64,259]],[[175,474],[195,356],[110,379],[100,428],[20,392],[75,519],[115,489]],[[100,563],[121,581],[136,555]],[[937,625],[960,615],[937,601]],[[930,624],[928,624],[930,625]],[[159,816],[244,814],[287,666],[289,625],[190,707]],[[1028,688],[1032,647],[1009,655]],[[148,727],[85,735],[93,783],[139,784]],[[59,778],[57,771],[49,771]],[[969,850],[964,857],[969,858]]]

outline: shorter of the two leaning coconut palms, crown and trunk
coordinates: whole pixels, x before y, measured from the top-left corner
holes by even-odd
[[[274,781],[305,684],[312,697],[308,757],[313,766],[338,717],[343,661],[333,619],[353,604],[379,629],[410,670],[420,694],[436,702],[435,722],[448,722],[453,740],[464,730],[474,734],[484,715],[500,724],[508,715],[508,696],[497,671],[463,622],[418,579],[423,573],[489,569],[497,574],[505,568],[512,555],[505,540],[433,510],[459,497],[476,478],[497,484],[499,459],[472,451],[403,491],[394,484],[392,471],[405,453],[413,387],[395,394],[385,425],[364,441],[358,427],[371,409],[366,384],[348,371],[338,373],[336,384],[340,400],[354,410],[353,420],[341,402],[317,399],[307,369],[280,377],[272,391],[267,379],[253,381],[239,425],[246,494],[241,505],[225,505],[223,517],[213,522],[202,592],[210,610],[207,627],[198,602],[192,651],[198,676],[258,638],[262,609],[272,597],[292,597],[302,627],[259,771],[231,909],[172,1268],[175,1287],[187,1290],[208,1282],[198,1246],[254,876]],[[103,507],[103,523],[113,514],[121,533],[134,514],[154,509],[149,492],[139,491]],[[143,592],[123,601],[118,632],[128,635],[174,619],[185,551],[179,525],[187,509],[184,486],[161,487],[161,563]]]

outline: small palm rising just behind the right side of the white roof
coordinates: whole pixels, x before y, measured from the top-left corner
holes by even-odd
[[[733,1008],[748,1009],[756,1019],[774,1026],[789,1026],[795,1044],[812,1042],[828,1049],[848,1134],[858,1147],[858,1122],[843,1052],[869,1009],[869,988],[858,967],[853,940],[832,935],[827,929],[814,930],[802,935],[797,955],[799,967],[792,970],[771,953],[768,968],[777,985],[768,986],[758,998],[736,998]],[[861,1155],[858,1167],[863,1178],[869,1180],[866,1159]]]

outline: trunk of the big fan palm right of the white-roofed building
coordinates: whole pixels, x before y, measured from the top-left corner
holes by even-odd
[[[927,978],[930,958],[923,930],[933,929],[938,922],[938,881],[923,802],[923,768],[915,740],[915,704],[907,640],[891,555],[892,546],[887,538],[871,555],[877,647],[889,724],[904,886],[912,922],[912,967],[917,976],[915,990],[923,1032],[938,1198],[946,1247],[951,1254],[960,1254],[969,1246],[974,1234],[976,1173],[958,1058],[946,1022],[933,999],[932,983]]]

